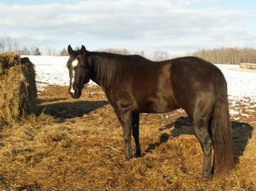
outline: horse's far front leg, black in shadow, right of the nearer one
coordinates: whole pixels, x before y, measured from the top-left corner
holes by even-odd
[[[139,143],[139,113],[133,113],[133,126],[132,126],[132,133],[136,145],[136,154],[135,156],[141,156],[141,144]]]

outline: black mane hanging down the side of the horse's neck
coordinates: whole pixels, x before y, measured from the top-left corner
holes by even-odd
[[[135,57],[106,52],[87,53],[89,65],[96,71],[97,82],[105,86],[109,86],[113,80],[121,79],[122,73],[133,67]]]

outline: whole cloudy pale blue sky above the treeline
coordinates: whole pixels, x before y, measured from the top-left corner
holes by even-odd
[[[200,49],[256,49],[256,1],[0,0],[0,41],[57,51],[126,48],[184,56]]]

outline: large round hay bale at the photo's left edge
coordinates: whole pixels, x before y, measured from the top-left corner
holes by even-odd
[[[35,112],[34,64],[19,54],[0,54],[0,124],[21,121]]]

